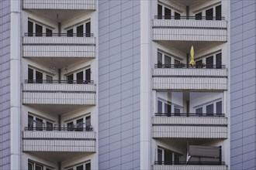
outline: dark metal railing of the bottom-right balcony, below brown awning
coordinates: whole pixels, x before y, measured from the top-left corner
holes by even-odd
[[[154,165],[225,165],[225,162],[154,162]]]

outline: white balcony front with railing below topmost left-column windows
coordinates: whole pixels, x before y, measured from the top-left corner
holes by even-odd
[[[80,37],[81,36],[81,37]],[[26,33],[22,38],[22,56],[42,59],[64,57],[95,58],[96,39],[92,34]]]

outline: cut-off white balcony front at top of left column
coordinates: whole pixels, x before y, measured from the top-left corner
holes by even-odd
[[[95,0],[22,0],[22,9],[95,10]]]

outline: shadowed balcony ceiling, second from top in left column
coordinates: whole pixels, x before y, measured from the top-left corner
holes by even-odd
[[[36,63],[40,63],[43,66],[46,66],[49,68],[49,70],[46,71],[50,71],[50,67],[54,66],[57,69],[62,69],[68,66],[71,66],[75,63],[81,63],[81,62],[88,62],[90,58],[76,58],[76,57],[34,57],[31,58],[31,60],[33,60]]]

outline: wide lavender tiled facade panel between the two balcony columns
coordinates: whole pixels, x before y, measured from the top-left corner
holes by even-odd
[[[140,1],[99,1],[99,169],[140,169]]]

